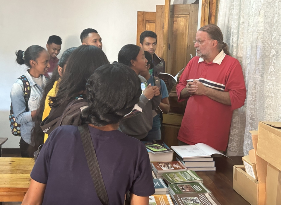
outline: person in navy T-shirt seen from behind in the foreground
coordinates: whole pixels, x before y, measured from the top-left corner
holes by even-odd
[[[88,124],[109,204],[124,204],[130,191],[131,205],[148,205],[155,193],[145,146],[118,130],[140,98],[140,84],[136,73],[119,63],[101,66],[88,80],[89,106],[81,119]],[[77,126],[60,126],[49,135],[30,176],[22,205],[101,204]]]

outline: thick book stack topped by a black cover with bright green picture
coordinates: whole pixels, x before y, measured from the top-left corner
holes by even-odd
[[[170,162],[173,160],[174,151],[161,140],[143,141],[143,143],[148,151],[150,162]]]

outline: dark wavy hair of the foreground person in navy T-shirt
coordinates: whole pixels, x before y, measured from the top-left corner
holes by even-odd
[[[82,122],[98,127],[120,122],[139,101],[140,83],[129,66],[121,63],[100,66],[88,80],[89,107],[82,111]]]

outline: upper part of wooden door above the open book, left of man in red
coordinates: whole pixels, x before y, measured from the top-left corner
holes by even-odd
[[[178,4],[170,7],[166,73],[173,76],[196,55],[193,39],[197,32],[198,7],[199,4]],[[157,5],[155,33],[157,33],[158,52],[162,52],[160,50],[163,45],[163,24],[164,5]],[[162,55],[160,54],[160,56]]]

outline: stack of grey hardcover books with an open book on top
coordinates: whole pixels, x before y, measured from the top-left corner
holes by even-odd
[[[196,145],[171,146],[177,153],[177,160],[188,170],[193,171],[215,171],[214,154],[223,155],[214,148],[198,143]]]

